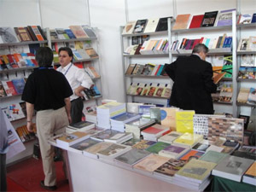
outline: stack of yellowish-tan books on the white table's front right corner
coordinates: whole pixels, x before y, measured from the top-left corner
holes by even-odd
[[[210,183],[210,175],[216,163],[190,160],[172,178],[177,185],[188,189],[204,190]]]

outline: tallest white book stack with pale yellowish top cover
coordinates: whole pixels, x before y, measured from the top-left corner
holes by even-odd
[[[97,120],[98,126],[110,129],[110,118],[118,116],[121,113],[126,112],[125,103],[120,102],[108,102],[104,105],[97,107]]]

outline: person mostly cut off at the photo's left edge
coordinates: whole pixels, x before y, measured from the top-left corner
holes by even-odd
[[[8,126],[9,119],[0,108],[0,191],[7,191],[6,181],[6,153],[8,151]],[[9,123],[9,125],[8,125]]]

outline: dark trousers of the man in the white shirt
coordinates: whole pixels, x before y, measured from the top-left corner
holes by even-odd
[[[71,119],[73,124],[81,121],[83,108],[84,108],[84,102],[81,99],[81,97],[71,101]]]

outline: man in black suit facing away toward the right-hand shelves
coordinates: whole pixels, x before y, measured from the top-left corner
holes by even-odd
[[[205,44],[196,44],[192,55],[166,64],[166,73],[174,82],[171,106],[195,113],[214,112],[211,93],[216,92],[217,85],[212,80],[212,65],[206,61],[208,50]]]

